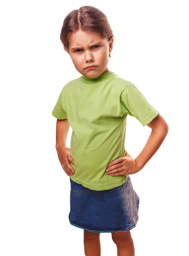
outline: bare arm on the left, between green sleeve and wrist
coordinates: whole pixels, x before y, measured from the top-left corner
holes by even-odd
[[[57,119],[56,126],[56,148],[60,146],[66,146],[66,138],[69,131],[69,121],[68,119]]]

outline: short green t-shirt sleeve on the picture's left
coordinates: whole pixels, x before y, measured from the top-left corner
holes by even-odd
[[[61,91],[61,93],[58,97],[57,103],[54,106],[54,109],[52,111],[52,115],[54,117],[56,117],[57,119],[66,119],[67,118],[64,90]]]

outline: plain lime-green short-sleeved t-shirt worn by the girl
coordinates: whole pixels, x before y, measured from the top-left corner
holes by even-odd
[[[62,89],[52,115],[72,127],[70,154],[75,170],[70,178],[93,190],[126,182],[128,175],[106,173],[109,163],[125,157],[127,115],[147,125],[158,111],[129,81],[109,71],[96,78],[80,76]]]

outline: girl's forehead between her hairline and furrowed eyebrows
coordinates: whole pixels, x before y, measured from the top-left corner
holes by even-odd
[[[102,38],[99,32],[84,31],[82,29],[72,31],[68,39],[70,48],[106,41],[106,38]]]

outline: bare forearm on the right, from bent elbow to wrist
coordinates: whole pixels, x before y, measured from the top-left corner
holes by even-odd
[[[158,148],[160,148],[160,145],[163,143],[167,133],[168,129],[165,128],[152,129],[146,145],[140,154],[135,158],[135,161],[137,162],[138,166],[141,167],[141,169],[152,158],[155,152],[158,151]]]

